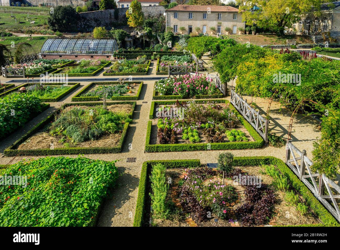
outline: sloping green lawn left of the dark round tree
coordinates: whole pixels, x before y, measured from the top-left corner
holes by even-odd
[[[27,18],[27,13],[29,18]],[[3,11],[0,12],[0,23],[4,23],[0,25],[0,29],[2,30],[24,30],[25,28],[31,28],[32,30],[43,30],[45,29],[44,25],[47,24],[47,18],[49,14],[47,11],[44,13],[13,13],[13,16],[16,17],[17,23],[15,23],[15,18],[11,17],[11,11]],[[31,21],[35,21],[35,23],[30,23]],[[22,23],[19,23],[22,22]]]

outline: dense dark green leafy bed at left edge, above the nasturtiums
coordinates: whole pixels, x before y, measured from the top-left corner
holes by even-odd
[[[0,99],[0,138],[24,126],[30,119],[48,109],[34,96],[13,93]]]

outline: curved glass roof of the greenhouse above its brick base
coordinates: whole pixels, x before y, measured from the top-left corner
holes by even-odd
[[[115,39],[49,38],[41,48],[41,53],[112,54],[117,49]]]

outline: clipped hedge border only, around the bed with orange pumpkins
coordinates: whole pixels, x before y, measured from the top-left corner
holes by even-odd
[[[143,82],[129,82],[130,84],[138,83],[139,88],[137,91],[136,96],[115,96],[112,97],[113,101],[137,101],[140,96],[140,91],[142,90],[143,87]],[[84,101],[98,101],[99,96],[80,96],[83,94],[88,88],[92,87],[95,84],[103,84],[103,85],[110,85],[110,84],[119,84],[119,82],[91,82],[89,85],[85,86],[82,90],[80,90],[74,97],[72,97],[71,101],[72,102],[84,102]]]

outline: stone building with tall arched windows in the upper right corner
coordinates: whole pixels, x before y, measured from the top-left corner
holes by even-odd
[[[298,35],[310,35],[315,43],[320,42],[323,35],[340,41],[340,1],[324,3],[320,12],[310,12],[300,17],[288,31]]]

